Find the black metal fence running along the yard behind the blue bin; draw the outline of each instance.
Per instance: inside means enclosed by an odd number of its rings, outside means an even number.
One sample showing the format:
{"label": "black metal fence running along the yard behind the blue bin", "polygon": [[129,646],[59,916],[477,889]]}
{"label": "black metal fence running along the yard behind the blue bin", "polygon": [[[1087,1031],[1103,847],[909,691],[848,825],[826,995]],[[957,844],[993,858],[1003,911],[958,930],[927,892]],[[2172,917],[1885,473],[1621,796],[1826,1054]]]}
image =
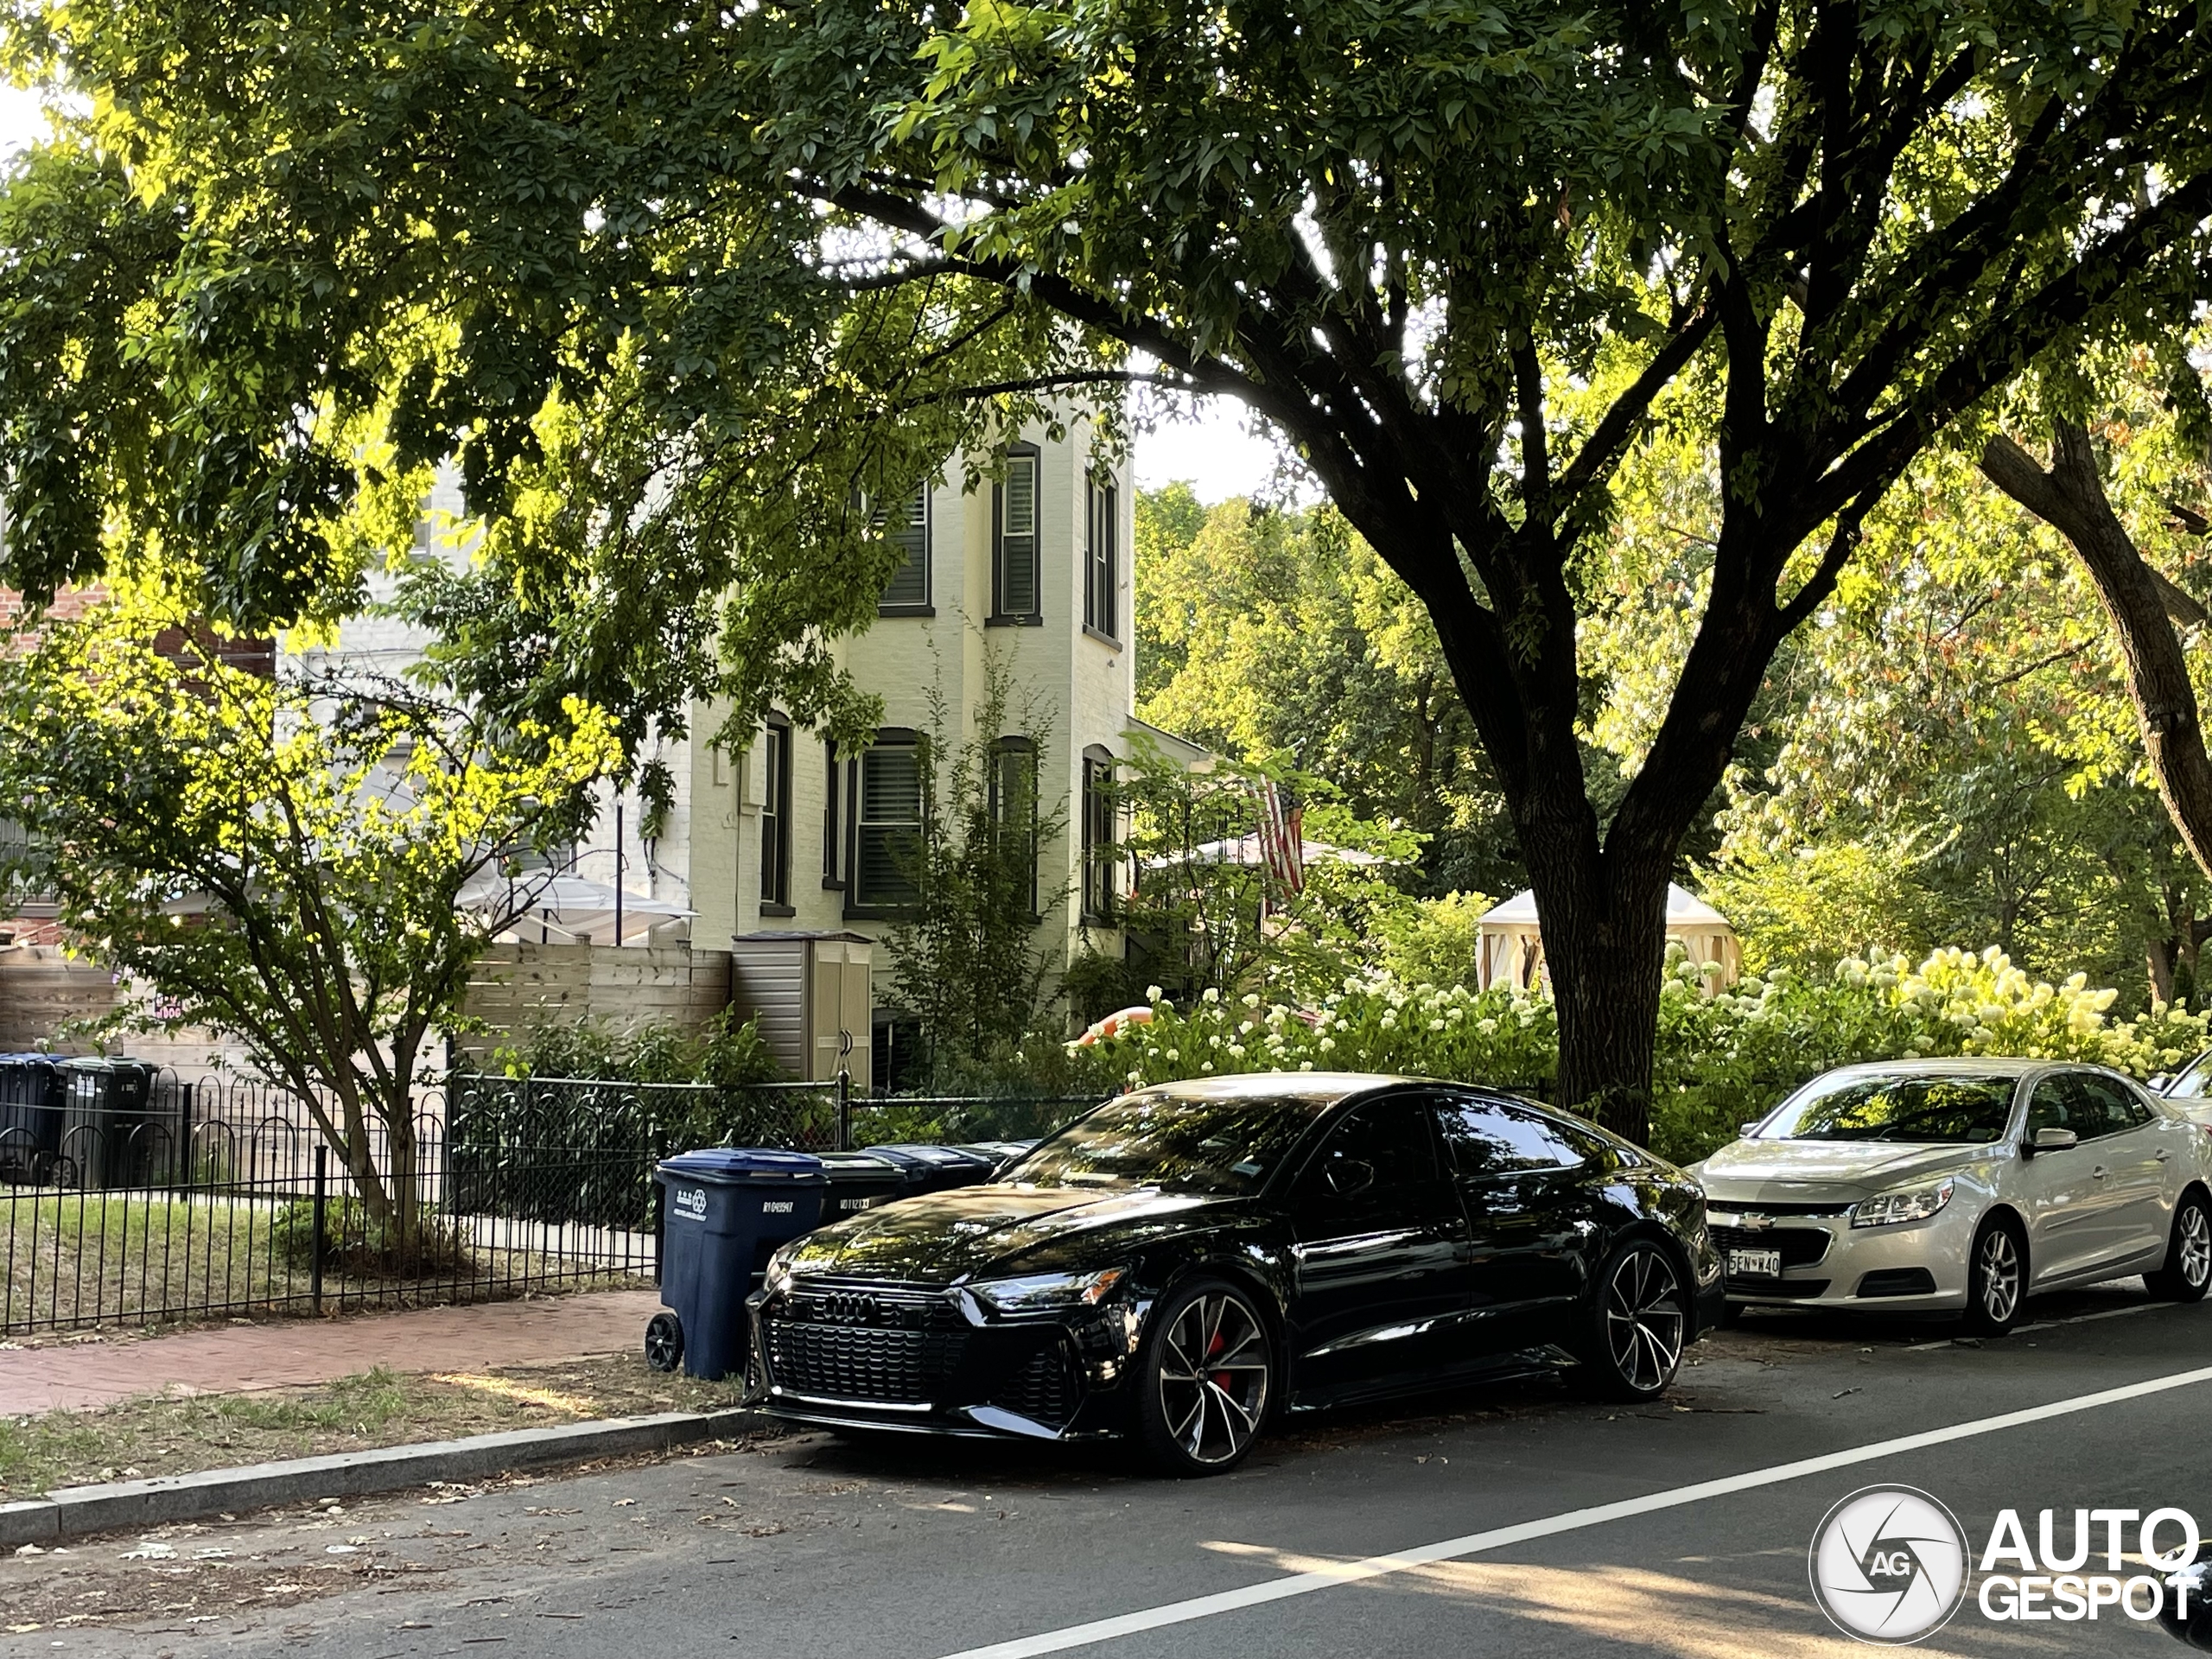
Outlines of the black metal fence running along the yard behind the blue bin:
{"label": "black metal fence running along the yard behind the blue bin", "polygon": [[653,1283],[672,1150],[1026,1139],[1095,1102],[460,1073],[418,1104],[349,1168],[272,1084],[0,1060],[0,1332]]}

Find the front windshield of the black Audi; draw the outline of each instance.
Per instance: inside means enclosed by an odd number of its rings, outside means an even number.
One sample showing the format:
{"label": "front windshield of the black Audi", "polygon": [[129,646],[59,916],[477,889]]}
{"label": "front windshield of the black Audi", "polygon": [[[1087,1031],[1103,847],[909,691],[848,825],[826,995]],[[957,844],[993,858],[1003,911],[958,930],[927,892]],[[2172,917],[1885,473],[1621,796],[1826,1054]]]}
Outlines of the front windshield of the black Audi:
{"label": "front windshield of the black Audi", "polygon": [[1141,1093],[1088,1113],[998,1179],[1006,1186],[1157,1186],[1256,1192],[1325,1108],[1323,1095]]}

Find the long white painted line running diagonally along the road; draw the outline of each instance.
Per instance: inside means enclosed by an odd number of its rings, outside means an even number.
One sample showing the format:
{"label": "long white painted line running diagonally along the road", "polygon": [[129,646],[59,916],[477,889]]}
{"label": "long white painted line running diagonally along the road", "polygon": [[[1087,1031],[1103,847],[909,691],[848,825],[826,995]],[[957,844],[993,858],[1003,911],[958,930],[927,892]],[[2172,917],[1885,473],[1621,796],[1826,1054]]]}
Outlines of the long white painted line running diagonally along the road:
{"label": "long white painted line running diagonally along the road", "polygon": [[1896,1458],[1905,1451],[1922,1451],[1924,1447],[1942,1447],[1953,1440],[1973,1440],[1984,1433],[2002,1433],[2004,1429],[2017,1429],[2028,1422],[2046,1422],[2051,1418],[2064,1418],[2075,1411],[2095,1411],[2097,1407],[2119,1405],[2121,1400],[2141,1400],[2146,1394],[2166,1394],[2168,1389],[2185,1389],[2194,1383],[2212,1383],[2212,1365],[2197,1371],[2174,1371],[2172,1376],[2154,1376],[2146,1383],[2130,1383],[2119,1389],[2101,1389],[2097,1394],[2077,1394],[2070,1400],[2053,1400],[2051,1405],[2031,1405],[2022,1411],[2004,1411],[1995,1418],[1973,1418],[1971,1422],[1953,1422],[1947,1429],[1927,1429],[1922,1433],[1898,1436],[1896,1440],[1874,1440],[1863,1447],[1849,1447],[1845,1451],[1827,1451],[1818,1458],[1798,1458],[1796,1462],[1778,1462],[1767,1469],[1752,1469],[1741,1475],[1723,1475],[1721,1480],[1701,1480],[1692,1486],[1672,1486],[1668,1491],[1646,1493],[1644,1498],[1624,1498],[1613,1504],[1593,1504],[1590,1509],[1568,1509],[1562,1515],[1544,1515],[1542,1520],[1515,1522],[1513,1526],[1493,1526],[1486,1533],[1467,1533],[1462,1537],[1447,1537],[1438,1544],[1420,1544],[1418,1548],[1398,1551],[1394,1555],[1369,1555],[1365,1562],[1343,1562],[1340,1566],[1323,1566],[1312,1573],[1294,1573],[1290,1577],[1265,1579],[1261,1584],[1245,1584],[1241,1590],[1221,1590],[1217,1595],[1197,1595],[1188,1601],[1168,1601],[1157,1608],[1141,1608],[1137,1613],[1121,1613],[1113,1619],[1093,1619],[1091,1624],[1071,1624],[1062,1630],[1044,1630],[1033,1637],[1015,1637],[1013,1641],[995,1641],[989,1648],[962,1648],[956,1655],[945,1655],[945,1659],[1033,1659],[1042,1652],[1064,1652],[1068,1648],[1086,1648],[1093,1641],[1113,1641],[1115,1637],[1133,1637],[1141,1630],[1159,1630],[1170,1624],[1188,1624],[1192,1619],[1210,1619],[1217,1613],[1239,1613],[1243,1608],[1265,1606],[1267,1601],[1283,1601],[1294,1595],[1312,1595],[1314,1590],[1329,1590],[1338,1584],[1358,1584],[1363,1579],[1376,1579],[1385,1573],[1405,1573],[1413,1566],[1429,1566],[1433,1562],[1455,1562],[1462,1555],[1480,1555],[1484,1551],[1504,1548],[1509,1544],[1526,1544],[1533,1537],[1555,1537],[1559,1533],[1577,1533],[1586,1526],[1606,1526],[1608,1522],[1630,1520],[1635,1515],[1652,1515],[1663,1509],[1681,1509],[1686,1504],[1701,1504],[1708,1498],[1728,1498],[1730,1493],[1752,1491],[1754,1486],[1778,1486],[1787,1480],[1803,1480],[1805,1475],[1825,1475],[1829,1469],[1849,1469],[1860,1462],[1878,1462],[1882,1458]]}

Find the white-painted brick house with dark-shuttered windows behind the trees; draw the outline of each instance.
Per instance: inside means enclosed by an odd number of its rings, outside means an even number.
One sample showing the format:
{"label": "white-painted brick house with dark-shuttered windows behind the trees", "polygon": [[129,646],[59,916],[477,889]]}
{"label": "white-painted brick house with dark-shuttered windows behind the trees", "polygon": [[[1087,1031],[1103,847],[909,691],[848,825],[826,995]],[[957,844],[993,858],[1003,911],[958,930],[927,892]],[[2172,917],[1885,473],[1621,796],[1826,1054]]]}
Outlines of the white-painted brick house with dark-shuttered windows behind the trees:
{"label": "white-painted brick house with dark-shuttered windows behind the trees", "polygon": [[[958,721],[945,732],[949,743],[982,739],[1033,752],[1040,818],[1062,825],[1037,849],[1048,962],[1064,967],[1084,949],[1121,953],[1113,927],[1121,874],[1095,849],[1117,834],[1108,785],[1137,728],[1126,462],[1093,469],[1088,422],[1071,420],[1062,440],[1042,427],[1022,431],[1006,449],[1004,478],[987,478],[973,493],[960,473],[951,462],[925,500],[894,513],[907,564],[876,624],[838,644],[858,684],[883,697],[874,745],[832,752],[772,712],[750,748],[728,752],[708,741],[726,712],[697,706],[692,734],[659,752],[675,776],[659,836],[639,838],[635,792],[608,792],[593,834],[575,849],[577,874],[697,911],[624,942],[734,945],[732,995],[763,1013],[781,1006],[785,987],[779,973],[763,978],[761,962],[779,958],[783,942],[796,962],[816,953],[805,936],[847,936],[838,953],[869,958],[874,993],[832,989],[821,1011],[807,1013],[812,984],[792,991],[801,1002],[792,1018],[816,1033],[849,1029],[867,1004],[874,1026],[887,1018],[889,962],[860,942],[880,940],[900,914],[902,865],[887,849],[916,816],[918,739],[929,732],[933,701]],[[458,484],[442,478],[429,507],[434,515],[458,513]],[[398,672],[420,644],[400,624],[356,619],[334,650]],[[1011,730],[980,732],[993,659],[1009,681]],[[852,1068],[863,1079],[878,1035],[852,1033]],[[814,1053],[818,1040],[794,1029],[785,1064],[803,1075],[834,1071],[834,1060]]]}

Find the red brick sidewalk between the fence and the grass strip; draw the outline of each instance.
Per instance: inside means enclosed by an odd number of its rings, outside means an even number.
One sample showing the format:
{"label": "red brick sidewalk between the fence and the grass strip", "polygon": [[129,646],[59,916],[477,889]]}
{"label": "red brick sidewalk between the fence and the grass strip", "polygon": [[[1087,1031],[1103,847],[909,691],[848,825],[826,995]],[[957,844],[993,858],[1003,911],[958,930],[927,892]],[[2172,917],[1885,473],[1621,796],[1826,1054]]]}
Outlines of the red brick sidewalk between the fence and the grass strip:
{"label": "red brick sidewalk between the fence and the grass strip", "polygon": [[0,1416],[108,1405],[133,1394],[239,1394],[394,1371],[478,1371],[619,1354],[644,1340],[655,1290],[420,1307],[405,1314],[223,1325],[0,1352]]}

